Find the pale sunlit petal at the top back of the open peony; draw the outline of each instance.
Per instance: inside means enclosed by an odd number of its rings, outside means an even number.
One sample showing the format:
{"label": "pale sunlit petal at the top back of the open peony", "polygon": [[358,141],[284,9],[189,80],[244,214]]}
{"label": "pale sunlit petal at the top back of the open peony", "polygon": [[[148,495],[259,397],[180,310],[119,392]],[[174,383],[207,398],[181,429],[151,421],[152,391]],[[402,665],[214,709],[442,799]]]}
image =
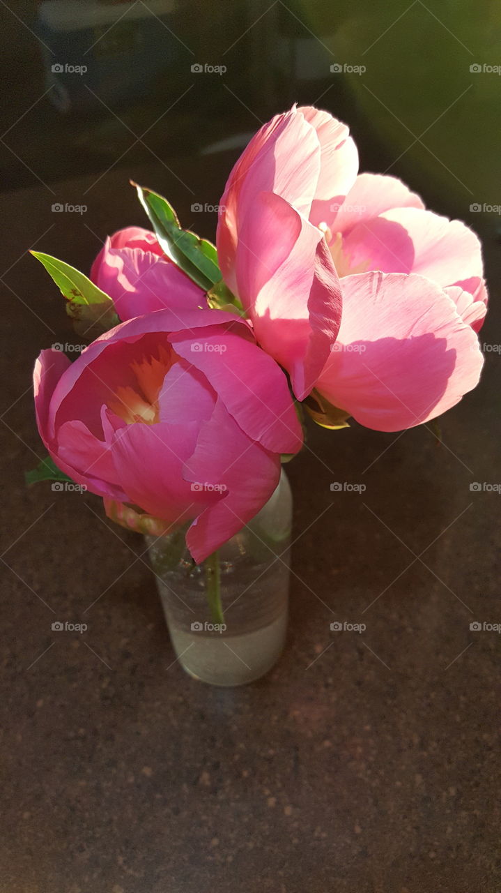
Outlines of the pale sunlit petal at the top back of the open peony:
{"label": "pale sunlit petal at the top back of the open peony", "polygon": [[[335,213],[333,205],[342,202],[357,178],[357,146],[349,136],[347,125],[328,112],[321,112],[311,105],[300,106],[298,112],[316,129],[321,149],[320,175],[309,220],[314,226],[324,222],[329,225]],[[295,202],[291,204],[295,205]]]}

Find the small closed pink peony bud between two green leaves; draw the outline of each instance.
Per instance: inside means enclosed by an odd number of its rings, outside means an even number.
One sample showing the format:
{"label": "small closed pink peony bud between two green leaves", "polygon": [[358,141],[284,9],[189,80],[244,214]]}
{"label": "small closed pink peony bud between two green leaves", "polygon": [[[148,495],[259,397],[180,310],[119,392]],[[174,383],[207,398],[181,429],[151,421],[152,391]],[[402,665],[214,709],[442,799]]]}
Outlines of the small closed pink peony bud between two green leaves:
{"label": "small closed pink peony bud between two green leaves", "polygon": [[207,307],[202,289],[169,261],[154,233],[139,227],[106,239],[90,278],[113,299],[122,321],[165,307]]}

